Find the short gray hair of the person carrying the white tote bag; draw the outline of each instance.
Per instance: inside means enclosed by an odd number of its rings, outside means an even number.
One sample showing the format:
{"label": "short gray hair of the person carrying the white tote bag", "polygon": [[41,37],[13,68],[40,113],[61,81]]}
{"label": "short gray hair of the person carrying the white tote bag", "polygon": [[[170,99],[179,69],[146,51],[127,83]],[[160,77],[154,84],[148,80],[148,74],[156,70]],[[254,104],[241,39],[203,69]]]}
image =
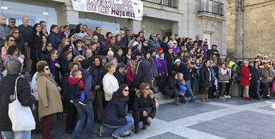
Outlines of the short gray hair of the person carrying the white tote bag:
{"label": "short gray hair of the person carrying the white tote bag", "polygon": [[10,59],[6,64],[8,75],[18,75],[22,70],[22,64],[17,58]]}

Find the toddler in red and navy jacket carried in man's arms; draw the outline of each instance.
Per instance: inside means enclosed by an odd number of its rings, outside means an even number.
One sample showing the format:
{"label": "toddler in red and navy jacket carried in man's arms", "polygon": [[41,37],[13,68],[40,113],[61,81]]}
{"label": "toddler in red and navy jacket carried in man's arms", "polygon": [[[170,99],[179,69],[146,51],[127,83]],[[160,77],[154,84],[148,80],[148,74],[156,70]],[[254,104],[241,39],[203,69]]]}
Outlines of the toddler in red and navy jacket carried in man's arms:
{"label": "toddler in red and navy jacket carried in man's arms", "polygon": [[[71,85],[76,84],[76,83],[81,79],[81,77],[82,77],[82,74],[81,74],[81,71],[80,71],[80,70],[73,70],[73,71],[72,71],[72,74],[69,76],[69,79],[68,79],[69,84],[71,84]],[[78,87],[79,87],[80,89],[83,89],[83,88],[84,88],[84,82],[83,82],[83,80],[80,80],[80,81],[79,81]],[[72,99],[72,98],[73,98],[73,95],[71,95],[71,99]],[[86,106],[87,103],[86,103],[84,100],[85,100],[85,93],[84,93],[84,91],[82,90],[82,91],[81,91],[81,95],[80,95],[80,101],[79,101],[79,103],[82,104],[82,105],[84,105],[84,106]]]}

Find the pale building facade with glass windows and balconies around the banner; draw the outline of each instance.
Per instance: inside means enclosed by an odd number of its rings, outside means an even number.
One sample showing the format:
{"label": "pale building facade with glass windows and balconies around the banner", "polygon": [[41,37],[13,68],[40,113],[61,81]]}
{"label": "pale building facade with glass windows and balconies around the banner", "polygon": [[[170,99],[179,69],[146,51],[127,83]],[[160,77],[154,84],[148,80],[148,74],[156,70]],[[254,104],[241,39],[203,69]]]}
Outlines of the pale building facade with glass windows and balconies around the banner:
{"label": "pale building facade with glass windows and balconies around the banner", "polygon": [[218,45],[220,54],[226,55],[226,1],[225,0],[142,0],[143,20],[119,18],[92,12],[75,11],[71,0],[0,0],[1,12],[6,18],[28,16],[30,25],[44,20],[48,31],[52,24],[76,25],[83,23],[89,28],[101,28],[117,32],[131,30],[143,31],[148,39],[151,33],[161,36],[178,34],[195,40],[207,40],[209,45]]}

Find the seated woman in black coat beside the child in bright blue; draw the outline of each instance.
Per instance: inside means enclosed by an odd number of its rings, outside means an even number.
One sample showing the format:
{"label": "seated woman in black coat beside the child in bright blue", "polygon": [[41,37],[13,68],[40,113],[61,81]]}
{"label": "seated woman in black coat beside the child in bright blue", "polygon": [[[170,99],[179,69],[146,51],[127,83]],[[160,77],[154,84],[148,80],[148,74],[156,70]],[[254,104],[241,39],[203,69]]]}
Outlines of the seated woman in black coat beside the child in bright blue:
{"label": "seated woman in black coat beside the child in bright blue", "polygon": [[179,95],[184,95],[180,92],[178,85],[177,85],[177,74],[171,73],[170,78],[165,83],[165,88],[163,94],[166,95],[166,99],[168,99],[168,96],[173,96],[175,99],[175,105],[181,105],[178,102],[177,97]]}

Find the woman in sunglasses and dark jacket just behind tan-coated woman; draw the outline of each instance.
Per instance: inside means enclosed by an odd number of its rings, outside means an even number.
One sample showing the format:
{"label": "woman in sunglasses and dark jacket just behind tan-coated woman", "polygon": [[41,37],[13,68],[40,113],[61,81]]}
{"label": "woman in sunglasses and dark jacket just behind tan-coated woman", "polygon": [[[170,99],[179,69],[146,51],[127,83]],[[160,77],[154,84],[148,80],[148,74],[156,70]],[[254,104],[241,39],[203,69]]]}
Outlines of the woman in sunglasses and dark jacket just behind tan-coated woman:
{"label": "woman in sunglasses and dark jacket just behind tan-coated woman", "polygon": [[48,55],[48,59],[46,59],[45,61],[48,63],[50,70],[51,70],[51,76],[53,77],[53,79],[55,80],[55,82],[57,83],[58,86],[61,86],[61,80],[60,80],[60,73],[59,73],[59,68],[60,65],[57,63],[58,60],[58,52],[56,49],[52,49],[49,52]]}

